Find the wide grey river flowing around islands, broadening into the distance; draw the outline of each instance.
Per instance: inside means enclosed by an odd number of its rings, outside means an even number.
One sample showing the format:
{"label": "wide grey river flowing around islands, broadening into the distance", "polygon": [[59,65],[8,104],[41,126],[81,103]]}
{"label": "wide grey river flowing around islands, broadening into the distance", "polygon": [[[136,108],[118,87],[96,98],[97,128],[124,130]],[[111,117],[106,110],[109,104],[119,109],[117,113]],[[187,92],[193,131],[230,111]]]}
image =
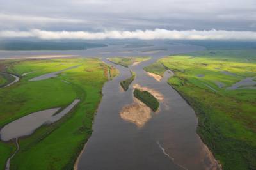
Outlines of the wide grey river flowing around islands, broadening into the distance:
{"label": "wide grey river flowing around islands, broadening into the distance", "polygon": [[[102,61],[115,66],[118,77],[106,82],[93,133],[81,153],[78,169],[219,169],[211,152],[196,134],[197,118],[193,109],[166,81],[156,81],[143,67],[170,54],[204,50],[182,44],[154,43],[150,47],[126,48],[111,45],[83,51],[56,52],[0,52],[0,58],[33,55],[100,56]],[[110,63],[111,56],[151,56],[148,61],[131,66],[136,79],[128,91],[120,90],[120,81],[131,74],[128,68]],[[120,111],[132,104],[132,86],[139,84],[163,94],[160,110],[143,125],[125,121]]]}

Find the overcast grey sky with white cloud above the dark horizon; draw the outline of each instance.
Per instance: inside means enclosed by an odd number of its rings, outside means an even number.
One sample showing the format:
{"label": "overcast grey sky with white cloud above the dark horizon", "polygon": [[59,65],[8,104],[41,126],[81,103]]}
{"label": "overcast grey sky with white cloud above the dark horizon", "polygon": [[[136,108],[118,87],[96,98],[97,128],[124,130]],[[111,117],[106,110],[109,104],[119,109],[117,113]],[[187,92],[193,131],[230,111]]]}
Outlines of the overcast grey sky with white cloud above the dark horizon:
{"label": "overcast grey sky with white cloud above the dark horizon", "polygon": [[[193,33],[196,34],[193,37],[202,36],[202,31],[209,31],[212,37],[214,29],[214,33],[220,34],[219,30],[228,31],[230,36],[239,33],[241,37],[243,36],[241,33],[248,36],[256,31],[256,1],[0,0],[0,23],[1,37],[10,37],[8,34],[24,36],[24,33],[27,33],[29,37],[40,38],[35,35],[35,31],[48,31],[47,33],[56,33],[61,38],[60,31],[67,33],[70,31],[106,33],[107,31],[108,35],[104,37],[109,38],[109,31],[118,31],[120,35],[124,35],[123,31],[154,32],[156,29],[181,31],[178,33],[182,38],[188,37],[184,35],[184,31],[194,29],[198,33],[194,31]],[[63,35],[63,32],[61,33]],[[170,35],[170,32],[166,34]],[[205,37],[205,32],[203,34]],[[156,36],[155,32],[154,35]],[[72,35],[69,38],[72,38]]]}

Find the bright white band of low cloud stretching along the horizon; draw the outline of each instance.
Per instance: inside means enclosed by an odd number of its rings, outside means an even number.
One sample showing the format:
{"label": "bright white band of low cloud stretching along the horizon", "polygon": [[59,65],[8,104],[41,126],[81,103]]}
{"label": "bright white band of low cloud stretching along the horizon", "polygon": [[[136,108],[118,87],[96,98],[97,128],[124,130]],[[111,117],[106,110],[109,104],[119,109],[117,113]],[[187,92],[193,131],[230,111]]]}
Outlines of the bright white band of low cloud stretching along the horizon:
{"label": "bright white band of low cloud stretching along the horizon", "polygon": [[256,40],[255,31],[225,31],[225,30],[136,30],[136,31],[44,31],[31,29],[30,31],[0,31],[0,38],[39,38],[42,40],[103,40],[103,39],[173,39],[173,40]]}

